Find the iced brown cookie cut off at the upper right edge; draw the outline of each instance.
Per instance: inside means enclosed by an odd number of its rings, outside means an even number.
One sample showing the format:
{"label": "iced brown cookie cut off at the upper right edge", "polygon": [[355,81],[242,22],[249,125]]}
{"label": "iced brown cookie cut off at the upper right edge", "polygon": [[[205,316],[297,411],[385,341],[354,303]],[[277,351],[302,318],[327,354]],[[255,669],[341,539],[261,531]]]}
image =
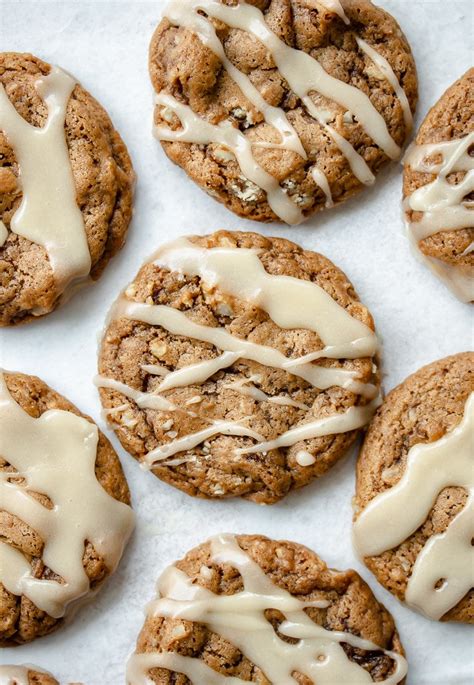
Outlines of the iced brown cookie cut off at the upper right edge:
{"label": "iced brown cookie cut off at the upper right edge", "polygon": [[423,261],[474,300],[474,69],[428,112],[405,156],[404,209]]}

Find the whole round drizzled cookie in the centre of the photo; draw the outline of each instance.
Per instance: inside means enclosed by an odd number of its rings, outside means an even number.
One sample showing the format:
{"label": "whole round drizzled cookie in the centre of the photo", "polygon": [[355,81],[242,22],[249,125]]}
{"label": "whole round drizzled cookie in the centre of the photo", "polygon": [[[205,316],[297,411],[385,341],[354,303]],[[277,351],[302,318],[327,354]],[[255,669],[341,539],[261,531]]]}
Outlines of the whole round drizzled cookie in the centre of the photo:
{"label": "whole round drizzled cookie in the centre of the photo", "polygon": [[163,246],[115,304],[97,384],[125,447],[198,497],[269,504],[372,416],[377,338],[328,259],[220,231]]}

